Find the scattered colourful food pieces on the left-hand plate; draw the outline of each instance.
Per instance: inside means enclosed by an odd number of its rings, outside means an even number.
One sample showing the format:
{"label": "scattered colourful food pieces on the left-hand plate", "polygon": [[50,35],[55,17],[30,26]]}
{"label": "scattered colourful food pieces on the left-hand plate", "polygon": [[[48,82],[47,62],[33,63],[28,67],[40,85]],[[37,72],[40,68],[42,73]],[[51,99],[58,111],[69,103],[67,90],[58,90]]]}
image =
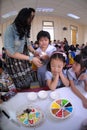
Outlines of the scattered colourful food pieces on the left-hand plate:
{"label": "scattered colourful food pieces on the left-hand plate", "polygon": [[42,122],[43,117],[42,111],[32,106],[17,113],[18,121],[25,126],[36,126]]}

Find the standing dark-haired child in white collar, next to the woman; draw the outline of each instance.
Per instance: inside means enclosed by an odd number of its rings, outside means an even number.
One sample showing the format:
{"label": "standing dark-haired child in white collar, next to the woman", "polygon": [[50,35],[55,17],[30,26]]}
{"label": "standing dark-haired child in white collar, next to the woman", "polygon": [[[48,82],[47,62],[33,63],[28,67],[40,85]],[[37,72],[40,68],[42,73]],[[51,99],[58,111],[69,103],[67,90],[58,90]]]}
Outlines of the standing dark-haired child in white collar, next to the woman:
{"label": "standing dark-haired child in white collar, next to the woman", "polygon": [[43,66],[38,68],[37,77],[41,87],[46,86],[45,84],[45,72],[46,65],[48,63],[48,59],[51,56],[52,52],[56,50],[56,48],[50,45],[50,34],[47,31],[40,31],[37,34],[37,41],[39,42],[39,48],[36,50],[38,52],[39,57],[43,63]]}

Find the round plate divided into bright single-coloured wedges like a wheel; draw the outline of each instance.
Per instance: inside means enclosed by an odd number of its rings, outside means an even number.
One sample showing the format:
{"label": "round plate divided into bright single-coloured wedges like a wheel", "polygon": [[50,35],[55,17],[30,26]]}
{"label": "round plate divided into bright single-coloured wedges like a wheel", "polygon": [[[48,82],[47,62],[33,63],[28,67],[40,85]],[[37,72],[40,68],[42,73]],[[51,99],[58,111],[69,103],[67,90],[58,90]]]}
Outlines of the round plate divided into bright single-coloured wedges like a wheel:
{"label": "round plate divided into bright single-coloured wedges like a wheel", "polygon": [[51,115],[58,119],[65,119],[69,117],[72,111],[72,104],[67,99],[55,100],[50,106]]}

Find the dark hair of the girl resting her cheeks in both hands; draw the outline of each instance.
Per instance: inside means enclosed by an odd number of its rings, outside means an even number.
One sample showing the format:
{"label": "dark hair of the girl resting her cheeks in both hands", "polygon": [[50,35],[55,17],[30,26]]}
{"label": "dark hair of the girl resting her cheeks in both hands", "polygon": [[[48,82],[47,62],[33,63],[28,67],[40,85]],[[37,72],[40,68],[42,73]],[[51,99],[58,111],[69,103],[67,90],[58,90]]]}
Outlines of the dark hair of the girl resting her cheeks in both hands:
{"label": "dark hair of the girl resting her cheeks in both hands", "polygon": [[48,71],[51,71],[51,66],[50,66],[50,63],[51,63],[51,60],[52,59],[60,59],[61,61],[63,61],[64,63],[66,62],[66,58],[65,56],[63,56],[64,53],[62,52],[53,52],[52,56],[50,57],[49,59],[49,62],[47,64],[47,70]]}

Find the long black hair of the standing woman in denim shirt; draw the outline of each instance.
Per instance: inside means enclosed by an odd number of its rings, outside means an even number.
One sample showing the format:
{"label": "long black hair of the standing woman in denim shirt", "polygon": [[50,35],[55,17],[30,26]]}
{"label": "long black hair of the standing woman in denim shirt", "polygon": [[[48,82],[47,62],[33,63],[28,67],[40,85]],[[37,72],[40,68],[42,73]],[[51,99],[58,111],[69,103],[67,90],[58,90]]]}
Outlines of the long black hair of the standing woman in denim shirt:
{"label": "long black hair of the standing woman in denim shirt", "polygon": [[30,36],[30,28],[31,25],[27,24],[28,18],[31,18],[31,13],[35,12],[33,8],[23,8],[18,13],[17,17],[15,18],[13,24],[15,24],[17,28],[17,32],[19,35],[19,39],[22,39],[22,37],[26,34],[27,37]]}

